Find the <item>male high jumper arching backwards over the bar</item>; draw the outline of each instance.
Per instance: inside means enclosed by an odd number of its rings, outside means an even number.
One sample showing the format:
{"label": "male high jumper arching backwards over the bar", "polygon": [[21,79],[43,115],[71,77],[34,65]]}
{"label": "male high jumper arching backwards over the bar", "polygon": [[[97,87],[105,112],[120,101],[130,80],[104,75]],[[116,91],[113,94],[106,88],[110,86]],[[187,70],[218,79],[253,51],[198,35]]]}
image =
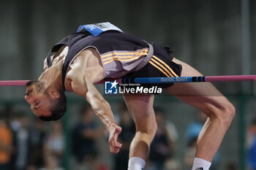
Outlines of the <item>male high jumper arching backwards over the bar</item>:
{"label": "male high jumper arching backwards over the bar", "polygon": [[[108,24],[97,25],[98,28]],[[96,27],[95,27],[96,28]],[[66,111],[64,91],[86,98],[109,132],[110,151],[117,153],[121,127],[115,123],[110,104],[94,84],[105,78],[202,76],[192,66],[173,58],[170,50],[150,44],[118,28],[95,35],[80,31],[53,46],[37,81],[26,85],[26,101],[42,120],[58,120]],[[159,85],[158,85],[159,86]],[[208,116],[197,139],[192,170],[208,170],[235,115],[235,108],[210,82],[184,82],[161,86],[181,101]],[[124,100],[136,125],[129,150],[129,170],[143,169],[157,131],[152,94],[125,94]]]}

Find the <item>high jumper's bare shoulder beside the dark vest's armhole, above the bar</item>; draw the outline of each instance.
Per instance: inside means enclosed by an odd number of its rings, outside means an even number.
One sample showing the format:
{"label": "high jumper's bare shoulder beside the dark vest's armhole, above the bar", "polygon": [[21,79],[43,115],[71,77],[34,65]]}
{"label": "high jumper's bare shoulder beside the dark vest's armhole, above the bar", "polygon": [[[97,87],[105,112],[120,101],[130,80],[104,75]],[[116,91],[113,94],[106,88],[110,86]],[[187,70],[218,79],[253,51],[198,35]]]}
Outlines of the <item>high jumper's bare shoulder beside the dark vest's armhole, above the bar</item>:
{"label": "high jumper's bare shoulder beside the dark vest's armhole, above the bar", "polygon": [[[83,81],[89,78],[92,83],[99,82],[104,77],[104,69],[100,55],[93,47],[87,48],[78,54],[69,66],[65,86],[72,90],[71,82]],[[78,82],[79,84],[82,82]]]}

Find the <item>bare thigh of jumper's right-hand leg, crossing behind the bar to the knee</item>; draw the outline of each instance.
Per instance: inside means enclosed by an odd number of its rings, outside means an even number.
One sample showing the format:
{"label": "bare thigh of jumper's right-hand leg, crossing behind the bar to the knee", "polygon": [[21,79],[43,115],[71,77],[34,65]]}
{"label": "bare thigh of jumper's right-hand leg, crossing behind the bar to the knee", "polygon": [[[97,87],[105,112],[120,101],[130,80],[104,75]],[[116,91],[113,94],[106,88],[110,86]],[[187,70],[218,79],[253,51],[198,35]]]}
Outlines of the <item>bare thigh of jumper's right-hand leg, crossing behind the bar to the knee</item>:
{"label": "bare thigh of jumper's right-hand leg, crossing behind the bar to the knee", "polygon": [[[187,63],[173,58],[175,63],[182,66],[181,77],[202,76],[200,72]],[[211,82],[180,82],[167,88],[167,91],[182,101],[202,110],[207,115],[213,109],[222,109],[229,101]]]}

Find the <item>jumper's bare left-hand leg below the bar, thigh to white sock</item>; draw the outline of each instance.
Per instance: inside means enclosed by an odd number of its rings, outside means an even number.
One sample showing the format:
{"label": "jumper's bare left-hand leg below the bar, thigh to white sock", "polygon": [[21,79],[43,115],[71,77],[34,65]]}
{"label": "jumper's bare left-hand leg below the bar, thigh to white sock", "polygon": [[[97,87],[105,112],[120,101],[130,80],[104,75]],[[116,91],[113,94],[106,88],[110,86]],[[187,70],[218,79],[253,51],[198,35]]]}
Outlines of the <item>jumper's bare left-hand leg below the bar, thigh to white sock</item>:
{"label": "jumper's bare left-hand leg below the bar, thigh to white sock", "polygon": [[129,149],[128,169],[141,170],[145,166],[150,144],[157,131],[154,96],[125,96],[125,101],[136,125],[136,134]]}

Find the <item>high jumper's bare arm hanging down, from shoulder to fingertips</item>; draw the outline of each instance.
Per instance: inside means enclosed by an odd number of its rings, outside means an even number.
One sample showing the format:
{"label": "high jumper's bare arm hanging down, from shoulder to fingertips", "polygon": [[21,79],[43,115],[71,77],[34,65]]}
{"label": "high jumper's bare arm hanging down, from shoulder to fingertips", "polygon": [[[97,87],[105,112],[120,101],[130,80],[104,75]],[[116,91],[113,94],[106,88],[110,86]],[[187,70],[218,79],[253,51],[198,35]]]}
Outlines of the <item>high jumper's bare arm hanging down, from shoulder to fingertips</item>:
{"label": "high jumper's bare arm hanging down, from shoulder to fingertips", "polygon": [[100,65],[98,57],[99,54],[93,48],[80,52],[70,64],[66,80],[67,84],[71,87],[69,90],[83,96],[91,104],[91,108],[109,131],[108,142],[110,144],[110,151],[117,153],[121,148],[121,144],[117,142],[118,134],[121,133],[121,127],[113,123],[115,120],[110,104],[108,104],[108,101],[105,101],[94,86],[94,82],[102,80],[104,74],[104,69]]}

